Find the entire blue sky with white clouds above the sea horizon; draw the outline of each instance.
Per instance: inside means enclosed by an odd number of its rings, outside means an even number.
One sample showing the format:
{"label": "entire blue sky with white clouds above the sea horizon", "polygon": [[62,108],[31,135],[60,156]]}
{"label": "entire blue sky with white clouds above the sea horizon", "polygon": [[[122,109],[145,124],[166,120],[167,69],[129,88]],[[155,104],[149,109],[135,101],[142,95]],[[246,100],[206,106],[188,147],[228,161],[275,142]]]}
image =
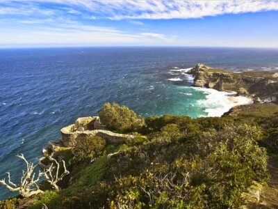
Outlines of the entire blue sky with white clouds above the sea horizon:
{"label": "entire blue sky with white clouds above the sea horizon", "polygon": [[0,47],[278,47],[278,0],[0,0]]}

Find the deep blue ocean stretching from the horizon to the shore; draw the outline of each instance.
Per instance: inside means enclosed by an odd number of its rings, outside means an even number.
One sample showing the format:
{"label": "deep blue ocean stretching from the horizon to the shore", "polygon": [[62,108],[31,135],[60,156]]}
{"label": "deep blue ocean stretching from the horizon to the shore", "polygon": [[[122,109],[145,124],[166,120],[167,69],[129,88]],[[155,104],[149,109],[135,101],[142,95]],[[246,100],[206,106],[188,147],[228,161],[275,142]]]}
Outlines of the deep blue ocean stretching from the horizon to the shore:
{"label": "deep blue ocean stretching from the horizon to the shore", "polygon": [[[234,71],[277,70],[278,49],[92,47],[0,50],[0,178],[17,182],[24,153],[37,162],[47,141],[104,102],[142,116],[206,116],[221,109],[206,91],[190,87],[184,70],[197,63]],[[12,195],[0,185],[0,199]]]}

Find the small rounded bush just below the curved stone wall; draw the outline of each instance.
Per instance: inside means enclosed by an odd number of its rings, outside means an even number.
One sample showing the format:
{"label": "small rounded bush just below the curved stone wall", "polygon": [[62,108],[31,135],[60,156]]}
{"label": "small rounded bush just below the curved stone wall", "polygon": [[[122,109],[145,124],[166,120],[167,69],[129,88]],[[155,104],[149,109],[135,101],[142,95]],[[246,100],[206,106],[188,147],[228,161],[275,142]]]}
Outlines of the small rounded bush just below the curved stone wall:
{"label": "small rounded bush just below the curved stone wall", "polygon": [[106,141],[97,135],[80,139],[72,149],[77,160],[88,160],[99,157],[104,151]]}

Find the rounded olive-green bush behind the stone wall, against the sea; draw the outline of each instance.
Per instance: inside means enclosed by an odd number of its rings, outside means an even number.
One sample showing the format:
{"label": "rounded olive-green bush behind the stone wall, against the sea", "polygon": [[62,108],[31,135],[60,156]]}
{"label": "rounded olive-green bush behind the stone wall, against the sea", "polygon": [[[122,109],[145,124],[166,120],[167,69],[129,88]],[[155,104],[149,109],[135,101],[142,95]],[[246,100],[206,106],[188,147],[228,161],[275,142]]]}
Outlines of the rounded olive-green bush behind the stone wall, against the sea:
{"label": "rounded olive-green bush behind the stone wall, against the sea", "polygon": [[99,110],[99,118],[108,129],[117,132],[136,131],[145,124],[133,110],[117,103],[105,103]]}

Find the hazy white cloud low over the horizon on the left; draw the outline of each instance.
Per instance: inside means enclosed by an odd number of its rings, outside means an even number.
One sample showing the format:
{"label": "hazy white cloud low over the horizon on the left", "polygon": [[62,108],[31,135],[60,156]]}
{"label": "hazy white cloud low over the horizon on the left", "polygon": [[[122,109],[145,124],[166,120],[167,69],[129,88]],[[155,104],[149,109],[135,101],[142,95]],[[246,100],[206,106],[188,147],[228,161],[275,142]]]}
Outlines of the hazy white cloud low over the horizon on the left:
{"label": "hazy white cloud low over the horizon on the left", "polygon": [[[12,25],[0,20],[0,26]],[[28,24],[26,28],[25,25]],[[0,31],[2,45],[147,45],[167,42],[162,33],[127,33],[109,26],[94,26],[65,18],[21,20]],[[170,40],[170,39],[169,39]]]}

